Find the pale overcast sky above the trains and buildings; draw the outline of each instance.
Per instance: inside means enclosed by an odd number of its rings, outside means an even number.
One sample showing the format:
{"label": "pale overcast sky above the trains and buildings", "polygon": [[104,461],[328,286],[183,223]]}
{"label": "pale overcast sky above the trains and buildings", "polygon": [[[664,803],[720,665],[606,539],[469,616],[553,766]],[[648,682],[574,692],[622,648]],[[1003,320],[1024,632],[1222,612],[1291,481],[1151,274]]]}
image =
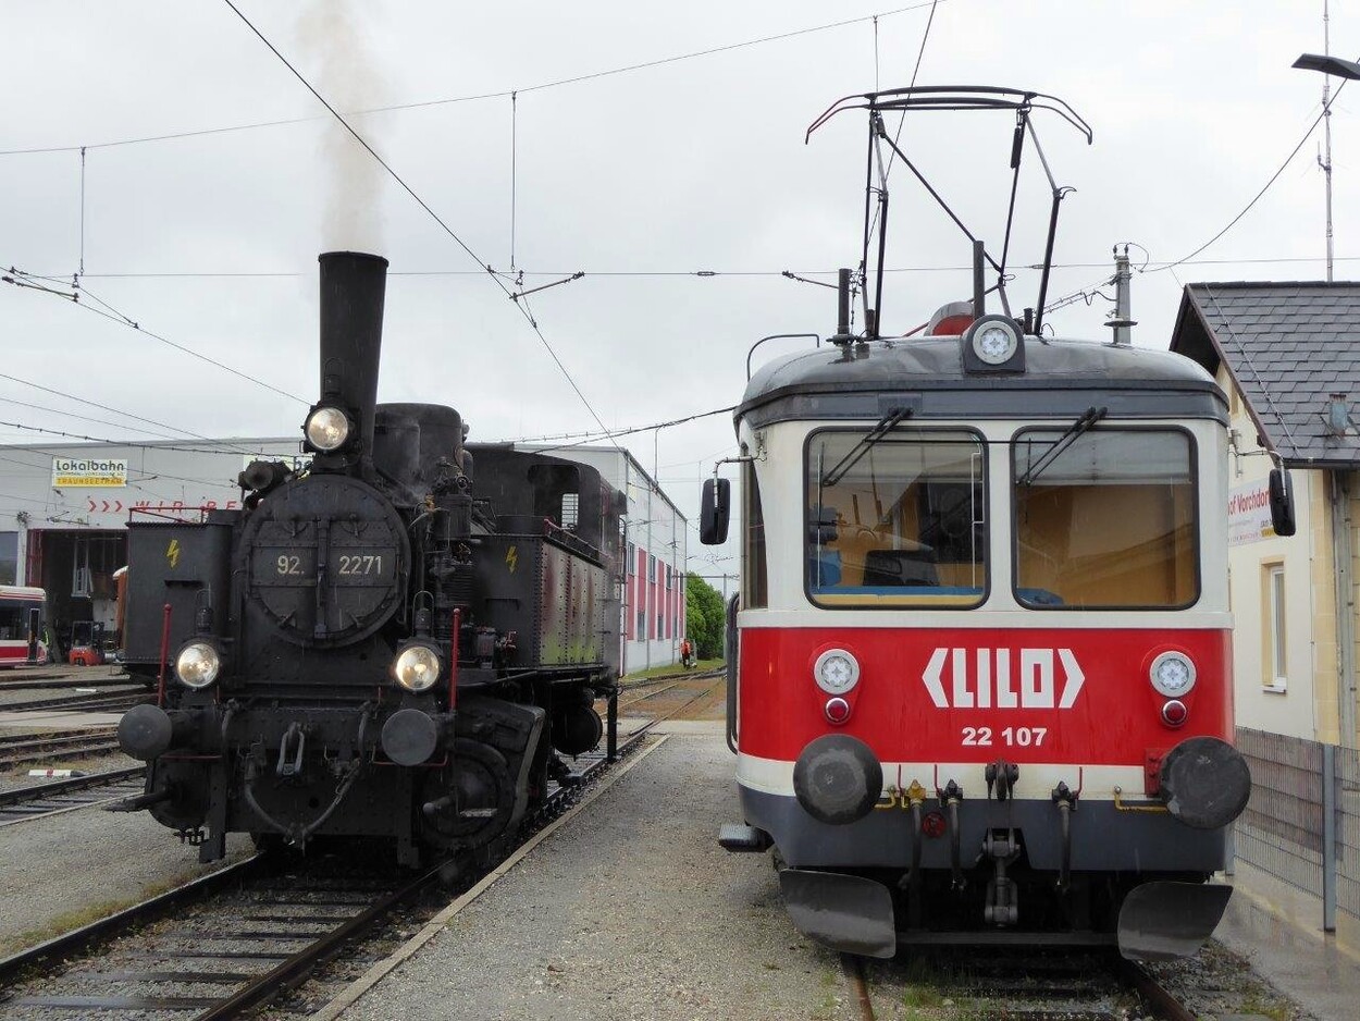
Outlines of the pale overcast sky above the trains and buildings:
{"label": "pale overcast sky above the trains and buildings", "polygon": [[[1356,4],[1330,3],[1331,52],[1346,59],[1360,56]],[[733,404],[756,339],[834,329],[832,291],[779,271],[831,280],[858,261],[864,117],[808,146],[806,125],[842,95],[908,84],[932,16],[911,0],[238,5],[339,110],[404,108],[350,120],[475,259],[222,0],[0,0],[0,264],[69,285],[83,260],[82,305],[102,299],[276,388],[0,285],[0,372],[68,395],[0,378],[0,421],[152,438],[94,402],[173,426],[146,426],[162,436],[294,433],[317,396],[316,256],[332,248],[392,264],[379,399],[453,404],[475,440],[598,429],[486,264],[522,270],[524,287],[585,271],[528,301],[611,429]],[[1323,0],[940,0],[917,83],[1051,93],[1089,121],[1087,147],[1036,116],[1058,182],[1076,188],[1050,301],[1096,290],[1112,245],[1134,242],[1136,265],[1148,261],[1134,343],[1166,347],[1183,283],[1325,278],[1321,128],[1232,230],[1159,271],[1242,212],[1316,118],[1323,78],[1289,65],[1322,50],[1322,12]],[[849,23],[812,31],[832,22]],[[651,65],[601,74],[639,64]],[[583,80],[552,84],[566,79]],[[1357,109],[1360,86],[1333,105],[1337,279],[1357,275]],[[214,131],[273,121],[291,123]],[[129,142],[186,132],[200,133]],[[902,132],[994,245],[1009,132],[1005,113],[913,114]],[[1027,172],[1016,306],[1034,304],[1025,267],[1049,212],[1040,167]],[[902,167],[891,185],[888,265],[903,272],[889,274],[885,334],[971,287],[963,236]],[[1095,295],[1049,321],[1106,340],[1110,308]],[[758,362],[779,353],[767,344]],[[700,476],[734,452],[730,417],[654,436],[620,442],[696,517]],[[39,441],[61,438],[0,425],[0,442]],[[736,568],[706,560],[696,532],[690,549],[694,570]]]}

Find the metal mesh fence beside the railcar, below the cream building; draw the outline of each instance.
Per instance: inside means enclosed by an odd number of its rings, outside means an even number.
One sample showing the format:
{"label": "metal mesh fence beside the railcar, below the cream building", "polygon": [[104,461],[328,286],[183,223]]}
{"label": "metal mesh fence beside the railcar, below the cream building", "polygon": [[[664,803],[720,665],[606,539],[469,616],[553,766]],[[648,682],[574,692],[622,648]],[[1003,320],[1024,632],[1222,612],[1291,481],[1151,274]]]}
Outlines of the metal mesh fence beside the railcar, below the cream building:
{"label": "metal mesh fence beside the railcar, below the cream building", "polygon": [[1235,856],[1321,897],[1323,930],[1336,930],[1337,911],[1360,919],[1360,753],[1246,727],[1238,749],[1251,800]]}

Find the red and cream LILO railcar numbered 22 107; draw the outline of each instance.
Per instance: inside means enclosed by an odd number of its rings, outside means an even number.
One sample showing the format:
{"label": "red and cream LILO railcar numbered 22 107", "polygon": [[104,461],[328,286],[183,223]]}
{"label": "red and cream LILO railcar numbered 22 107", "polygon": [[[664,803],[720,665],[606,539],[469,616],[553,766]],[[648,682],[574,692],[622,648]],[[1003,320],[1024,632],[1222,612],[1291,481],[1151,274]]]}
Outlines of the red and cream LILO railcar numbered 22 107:
{"label": "red and cream LILO railcar numbered 22 107", "polygon": [[997,370],[975,332],[794,355],[747,389],[725,843],[772,841],[794,920],[839,949],[1190,953],[1250,792],[1223,395],[1091,342],[1020,338]]}

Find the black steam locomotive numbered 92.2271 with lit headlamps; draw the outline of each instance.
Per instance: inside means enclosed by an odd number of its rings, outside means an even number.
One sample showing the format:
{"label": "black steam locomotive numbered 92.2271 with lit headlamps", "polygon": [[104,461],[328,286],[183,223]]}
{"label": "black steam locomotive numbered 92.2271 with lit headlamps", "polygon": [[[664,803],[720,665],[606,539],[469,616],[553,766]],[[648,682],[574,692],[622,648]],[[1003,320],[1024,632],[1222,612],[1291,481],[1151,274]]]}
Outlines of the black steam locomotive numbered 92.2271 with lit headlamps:
{"label": "black steam locomotive numbered 92.2271 with lit headlamps", "polygon": [[321,263],[310,464],[253,461],[241,510],[129,524],[118,726],[146,809],[200,860],[394,839],[492,855],[562,756],[616,722],[626,498],[560,457],[465,442],[452,407],[377,404],[386,260]]}

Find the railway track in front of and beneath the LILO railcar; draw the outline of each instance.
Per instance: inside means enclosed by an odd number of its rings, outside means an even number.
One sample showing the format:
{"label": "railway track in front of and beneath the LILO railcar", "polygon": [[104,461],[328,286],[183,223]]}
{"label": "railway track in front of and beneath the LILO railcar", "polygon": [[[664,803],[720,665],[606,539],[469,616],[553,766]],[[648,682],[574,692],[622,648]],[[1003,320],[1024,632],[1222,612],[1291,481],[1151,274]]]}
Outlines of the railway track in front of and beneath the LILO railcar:
{"label": "railway track in front of and beneath the LILO railcar", "polygon": [[[894,961],[842,956],[847,999],[860,1021],[880,1007],[952,1007],[960,1017],[1008,1021],[1195,1021],[1171,991],[1112,949],[983,953],[949,947]],[[883,1011],[885,1017],[896,1013]]]}

